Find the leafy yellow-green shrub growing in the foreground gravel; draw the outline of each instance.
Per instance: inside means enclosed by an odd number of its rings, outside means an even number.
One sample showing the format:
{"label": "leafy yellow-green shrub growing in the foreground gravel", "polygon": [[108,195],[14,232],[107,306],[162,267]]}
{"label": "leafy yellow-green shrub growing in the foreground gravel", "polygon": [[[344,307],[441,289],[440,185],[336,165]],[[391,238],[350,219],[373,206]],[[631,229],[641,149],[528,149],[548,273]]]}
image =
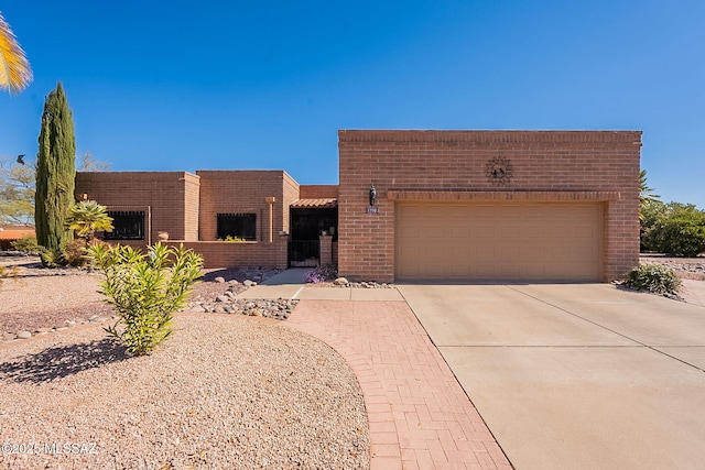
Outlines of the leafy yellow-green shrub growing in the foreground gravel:
{"label": "leafy yellow-green shrub growing in the foreground gravel", "polygon": [[106,331],[128,352],[150,353],[171,335],[174,313],[184,307],[189,287],[200,276],[203,259],[183,244],[156,243],[147,253],[127,245],[93,244],[88,251],[105,274],[100,293],[120,317]]}

